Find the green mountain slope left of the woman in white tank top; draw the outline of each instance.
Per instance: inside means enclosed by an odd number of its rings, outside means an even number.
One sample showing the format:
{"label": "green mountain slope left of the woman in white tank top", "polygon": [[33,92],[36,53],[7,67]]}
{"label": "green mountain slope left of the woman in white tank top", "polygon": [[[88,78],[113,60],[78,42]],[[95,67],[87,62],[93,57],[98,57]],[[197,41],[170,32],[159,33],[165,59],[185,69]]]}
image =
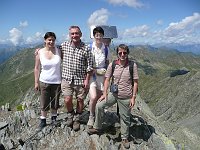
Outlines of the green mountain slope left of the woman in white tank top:
{"label": "green mountain slope left of the woman in white tank top", "polygon": [[0,65],[0,105],[14,105],[33,87],[34,49],[25,49]]}

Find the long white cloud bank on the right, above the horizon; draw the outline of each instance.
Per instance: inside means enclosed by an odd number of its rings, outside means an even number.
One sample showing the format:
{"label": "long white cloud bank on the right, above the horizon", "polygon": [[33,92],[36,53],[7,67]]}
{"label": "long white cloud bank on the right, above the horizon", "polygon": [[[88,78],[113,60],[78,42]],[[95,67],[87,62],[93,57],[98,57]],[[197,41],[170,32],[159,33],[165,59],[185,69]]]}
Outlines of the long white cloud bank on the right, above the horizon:
{"label": "long white cloud bank on the right, above the horizon", "polygon": [[[162,22],[161,20],[159,22]],[[153,30],[147,25],[135,26],[119,32],[120,42],[132,44],[199,44],[200,43],[200,14],[194,13],[180,22],[170,23],[168,27]],[[118,40],[118,39],[117,39]]]}

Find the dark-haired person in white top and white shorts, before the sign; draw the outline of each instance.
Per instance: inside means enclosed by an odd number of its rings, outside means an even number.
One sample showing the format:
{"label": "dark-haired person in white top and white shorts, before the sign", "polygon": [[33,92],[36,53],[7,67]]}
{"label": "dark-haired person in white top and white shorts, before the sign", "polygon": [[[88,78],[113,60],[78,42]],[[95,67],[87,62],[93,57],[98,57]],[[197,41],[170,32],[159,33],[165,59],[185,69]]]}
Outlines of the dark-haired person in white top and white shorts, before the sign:
{"label": "dark-haired person in white top and white shorts, before the sign", "polygon": [[94,73],[93,77],[90,78],[90,89],[89,89],[89,120],[87,123],[88,128],[91,128],[94,124],[95,106],[97,100],[103,93],[104,74],[106,72],[107,65],[109,64],[109,49],[103,43],[104,30],[100,26],[93,29],[94,41],[91,44],[91,50],[94,57]]}

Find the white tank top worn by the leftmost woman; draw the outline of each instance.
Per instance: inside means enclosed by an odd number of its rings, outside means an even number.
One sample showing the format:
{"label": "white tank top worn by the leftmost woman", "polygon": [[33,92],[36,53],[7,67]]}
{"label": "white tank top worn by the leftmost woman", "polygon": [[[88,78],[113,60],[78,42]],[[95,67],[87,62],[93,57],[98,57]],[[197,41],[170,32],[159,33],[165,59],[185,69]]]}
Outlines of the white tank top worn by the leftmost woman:
{"label": "white tank top worn by the leftmost woman", "polygon": [[41,73],[40,81],[48,84],[61,83],[61,57],[58,49],[55,48],[55,55],[47,59],[44,55],[44,48],[40,50]]}

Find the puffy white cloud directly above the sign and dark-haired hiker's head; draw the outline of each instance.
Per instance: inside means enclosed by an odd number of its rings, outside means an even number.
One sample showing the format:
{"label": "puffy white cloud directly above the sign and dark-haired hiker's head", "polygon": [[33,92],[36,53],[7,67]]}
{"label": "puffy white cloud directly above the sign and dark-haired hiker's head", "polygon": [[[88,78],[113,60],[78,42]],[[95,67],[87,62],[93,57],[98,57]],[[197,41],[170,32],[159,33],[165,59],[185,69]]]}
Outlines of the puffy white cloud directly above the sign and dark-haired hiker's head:
{"label": "puffy white cloud directly above the sign and dark-haired hiker's head", "polygon": [[100,10],[96,10],[91,14],[88,19],[88,25],[106,25],[109,17],[109,12],[105,8],[101,8]]}

